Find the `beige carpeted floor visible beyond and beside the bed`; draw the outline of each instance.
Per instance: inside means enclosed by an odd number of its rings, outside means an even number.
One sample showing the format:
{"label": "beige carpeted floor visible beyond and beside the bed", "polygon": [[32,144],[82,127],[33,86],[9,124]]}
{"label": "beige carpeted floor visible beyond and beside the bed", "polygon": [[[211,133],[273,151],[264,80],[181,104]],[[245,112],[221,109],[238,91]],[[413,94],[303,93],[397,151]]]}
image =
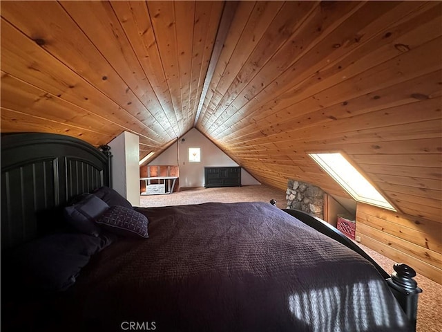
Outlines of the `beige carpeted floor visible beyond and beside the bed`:
{"label": "beige carpeted floor visible beyond and beside the bed", "polygon": [[[244,187],[222,188],[189,188],[173,194],[141,196],[140,206],[167,206],[186,205],[207,202],[234,203],[276,200],[278,208],[287,208],[285,191],[277,190],[265,185],[248,185]],[[387,273],[391,273],[394,261],[361,246]],[[405,262],[406,263],[406,262]],[[421,275],[416,276],[418,286],[423,289],[419,295],[417,328],[418,332],[441,332],[442,331],[442,285],[433,282]]]}

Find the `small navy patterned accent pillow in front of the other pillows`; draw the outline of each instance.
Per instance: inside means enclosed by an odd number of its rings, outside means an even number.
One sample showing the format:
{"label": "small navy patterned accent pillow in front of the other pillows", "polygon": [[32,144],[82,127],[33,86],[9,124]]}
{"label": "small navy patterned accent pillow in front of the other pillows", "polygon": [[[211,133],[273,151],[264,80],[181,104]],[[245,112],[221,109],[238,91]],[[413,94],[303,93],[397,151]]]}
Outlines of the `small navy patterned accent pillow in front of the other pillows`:
{"label": "small navy patterned accent pillow in front of the other pillows", "polygon": [[95,219],[99,226],[124,237],[148,238],[148,220],[144,214],[124,206],[111,206]]}

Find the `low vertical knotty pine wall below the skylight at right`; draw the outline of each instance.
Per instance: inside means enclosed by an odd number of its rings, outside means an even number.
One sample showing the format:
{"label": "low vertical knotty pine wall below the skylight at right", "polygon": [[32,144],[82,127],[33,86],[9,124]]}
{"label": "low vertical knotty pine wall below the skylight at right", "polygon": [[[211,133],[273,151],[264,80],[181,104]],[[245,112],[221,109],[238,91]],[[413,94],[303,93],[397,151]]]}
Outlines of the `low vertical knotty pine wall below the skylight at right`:
{"label": "low vertical knotty pine wall below the skylight at right", "polygon": [[356,235],[365,246],[442,282],[441,223],[358,203]]}

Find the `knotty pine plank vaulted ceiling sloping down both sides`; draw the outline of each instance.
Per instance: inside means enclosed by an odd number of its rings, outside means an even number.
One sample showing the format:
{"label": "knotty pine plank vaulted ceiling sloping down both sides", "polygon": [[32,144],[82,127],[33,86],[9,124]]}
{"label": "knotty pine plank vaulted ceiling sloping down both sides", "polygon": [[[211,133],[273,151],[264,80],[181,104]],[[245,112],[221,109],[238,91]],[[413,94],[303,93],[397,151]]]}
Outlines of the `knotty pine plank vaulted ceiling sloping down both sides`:
{"label": "knotty pine plank vaulted ceiling sloping down both sides", "polygon": [[442,221],[439,1],[1,1],[1,132],[160,153],[196,127],[262,183],[347,196],[344,151]]}

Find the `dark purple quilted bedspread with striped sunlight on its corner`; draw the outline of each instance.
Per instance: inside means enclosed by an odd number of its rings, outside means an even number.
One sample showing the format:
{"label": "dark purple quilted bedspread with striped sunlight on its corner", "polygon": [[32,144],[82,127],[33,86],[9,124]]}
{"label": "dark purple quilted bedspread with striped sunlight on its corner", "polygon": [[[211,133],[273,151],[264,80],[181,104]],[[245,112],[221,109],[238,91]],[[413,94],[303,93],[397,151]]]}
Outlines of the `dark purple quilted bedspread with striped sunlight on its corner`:
{"label": "dark purple quilted bedspread with striped sunlight on its corner", "polygon": [[368,261],[268,203],[137,211],[149,238],[93,257],[64,330],[410,331]]}

